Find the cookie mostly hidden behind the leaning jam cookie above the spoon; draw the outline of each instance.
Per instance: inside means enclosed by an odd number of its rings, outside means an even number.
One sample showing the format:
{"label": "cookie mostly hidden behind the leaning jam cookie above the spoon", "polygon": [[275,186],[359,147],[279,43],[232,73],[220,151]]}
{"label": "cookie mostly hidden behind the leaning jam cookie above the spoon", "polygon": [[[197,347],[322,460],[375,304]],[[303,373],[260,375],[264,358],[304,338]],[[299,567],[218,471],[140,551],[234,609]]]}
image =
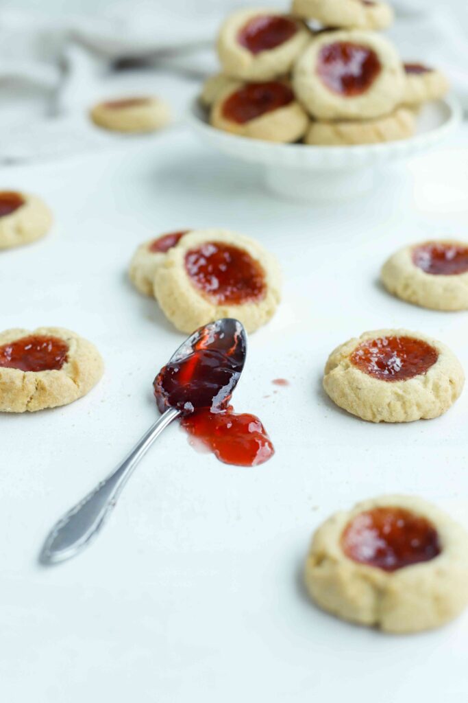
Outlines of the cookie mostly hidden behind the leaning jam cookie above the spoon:
{"label": "cookie mostly hidden behind the leaning jam cookie above the spoon", "polygon": [[130,263],[130,280],[143,295],[154,295],[154,275],[166,252],[175,247],[189,230],[168,232],[140,244]]}

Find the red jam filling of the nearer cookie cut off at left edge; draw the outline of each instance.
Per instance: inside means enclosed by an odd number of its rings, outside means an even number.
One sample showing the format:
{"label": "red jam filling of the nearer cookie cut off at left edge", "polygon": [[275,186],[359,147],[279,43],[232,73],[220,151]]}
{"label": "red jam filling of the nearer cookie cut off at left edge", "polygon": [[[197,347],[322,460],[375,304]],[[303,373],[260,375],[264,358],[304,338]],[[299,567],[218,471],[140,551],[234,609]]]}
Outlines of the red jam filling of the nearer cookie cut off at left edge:
{"label": "red jam filling of the nearer cookie cut off at left edge", "polygon": [[21,371],[59,370],[67,361],[68,344],[58,337],[29,335],[0,347],[0,367]]}

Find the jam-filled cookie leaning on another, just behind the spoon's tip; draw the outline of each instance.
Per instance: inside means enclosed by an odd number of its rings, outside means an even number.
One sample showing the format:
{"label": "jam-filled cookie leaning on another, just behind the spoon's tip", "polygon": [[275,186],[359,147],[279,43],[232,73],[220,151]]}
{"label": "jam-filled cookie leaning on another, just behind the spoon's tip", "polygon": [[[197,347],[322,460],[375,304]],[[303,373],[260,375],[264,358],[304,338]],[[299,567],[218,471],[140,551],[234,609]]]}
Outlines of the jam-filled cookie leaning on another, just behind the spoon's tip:
{"label": "jam-filled cookie leaning on another, just behind the spoon's tip", "polygon": [[255,240],[222,229],[196,230],[158,266],[154,297],[182,332],[222,317],[236,318],[253,332],[274,315],[281,273],[275,257]]}

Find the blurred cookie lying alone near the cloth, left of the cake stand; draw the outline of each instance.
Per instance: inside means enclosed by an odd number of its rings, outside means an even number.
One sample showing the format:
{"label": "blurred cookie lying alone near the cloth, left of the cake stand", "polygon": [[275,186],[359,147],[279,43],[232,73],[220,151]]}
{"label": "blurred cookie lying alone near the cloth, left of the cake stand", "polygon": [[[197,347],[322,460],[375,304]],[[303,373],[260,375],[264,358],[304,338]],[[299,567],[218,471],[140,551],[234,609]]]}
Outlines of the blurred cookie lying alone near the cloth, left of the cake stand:
{"label": "blurred cookie lying alone near the cloth, left of the cake stand", "polygon": [[151,132],[171,122],[171,108],[159,98],[135,97],[98,103],[90,112],[99,127],[122,132]]}

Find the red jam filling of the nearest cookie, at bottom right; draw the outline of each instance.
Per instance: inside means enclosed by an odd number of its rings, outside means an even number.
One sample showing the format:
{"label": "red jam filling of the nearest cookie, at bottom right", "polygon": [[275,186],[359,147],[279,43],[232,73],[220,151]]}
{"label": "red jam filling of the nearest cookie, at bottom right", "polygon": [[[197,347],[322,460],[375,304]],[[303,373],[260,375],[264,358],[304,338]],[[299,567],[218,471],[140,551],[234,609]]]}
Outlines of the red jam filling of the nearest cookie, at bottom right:
{"label": "red jam filling of the nearest cookie, at bottom right", "polygon": [[435,527],[404,508],[374,508],[347,524],[341,538],[345,555],[387,572],[428,562],[441,553]]}

